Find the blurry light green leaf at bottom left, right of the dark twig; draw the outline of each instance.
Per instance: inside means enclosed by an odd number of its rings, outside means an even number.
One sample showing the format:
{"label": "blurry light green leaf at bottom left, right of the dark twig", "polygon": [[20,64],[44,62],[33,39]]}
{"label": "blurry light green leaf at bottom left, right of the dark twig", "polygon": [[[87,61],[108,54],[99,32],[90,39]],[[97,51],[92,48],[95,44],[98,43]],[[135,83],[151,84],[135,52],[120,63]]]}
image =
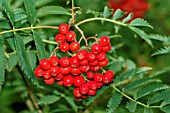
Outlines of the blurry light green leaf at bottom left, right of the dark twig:
{"label": "blurry light green leaf at bottom left, right of the dark twig", "polygon": [[56,95],[46,95],[38,100],[38,104],[53,104],[60,100],[60,97]]}

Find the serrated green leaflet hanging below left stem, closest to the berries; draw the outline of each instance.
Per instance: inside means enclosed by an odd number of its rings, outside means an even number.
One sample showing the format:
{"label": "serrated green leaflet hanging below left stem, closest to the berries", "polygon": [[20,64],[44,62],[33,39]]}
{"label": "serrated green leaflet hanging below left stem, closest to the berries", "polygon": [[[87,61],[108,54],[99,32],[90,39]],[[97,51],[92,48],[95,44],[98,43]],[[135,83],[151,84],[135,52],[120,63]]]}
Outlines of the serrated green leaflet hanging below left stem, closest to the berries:
{"label": "serrated green leaflet hanging below left stem, closest to the berries", "polygon": [[38,55],[39,60],[41,60],[43,58],[47,58],[47,54],[45,51],[45,45],[44,45],[40,35],[34,31],[33,36],[34,36],[34,41],[35,41],[37,55]]}

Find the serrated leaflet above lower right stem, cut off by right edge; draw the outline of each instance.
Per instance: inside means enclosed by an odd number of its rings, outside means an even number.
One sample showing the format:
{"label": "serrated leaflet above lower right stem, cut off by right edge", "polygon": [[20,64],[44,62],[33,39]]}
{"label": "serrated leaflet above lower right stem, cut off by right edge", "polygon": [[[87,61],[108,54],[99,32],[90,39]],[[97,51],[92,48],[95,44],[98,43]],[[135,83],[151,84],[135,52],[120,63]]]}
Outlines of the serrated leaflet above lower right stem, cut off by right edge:
{"label": "serrated leaflet above lower right stem, cut off by right edge", "polygon": [[151,99],[149,99],[148,104],[153,104],[165,99],[170,99],[170,90],[157,93]]}

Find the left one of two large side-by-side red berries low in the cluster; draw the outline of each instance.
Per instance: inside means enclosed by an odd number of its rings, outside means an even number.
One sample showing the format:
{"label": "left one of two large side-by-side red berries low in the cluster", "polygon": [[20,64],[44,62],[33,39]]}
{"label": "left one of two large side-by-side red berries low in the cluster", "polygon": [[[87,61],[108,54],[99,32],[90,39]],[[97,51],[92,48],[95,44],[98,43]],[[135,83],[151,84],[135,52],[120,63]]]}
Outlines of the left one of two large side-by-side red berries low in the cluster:
{"label": "left one of two large side-by-side red berries low in the cluster", "polygon": [[73,77],[71,75],[64,76],[63,85],[69,87],[73,84]]}

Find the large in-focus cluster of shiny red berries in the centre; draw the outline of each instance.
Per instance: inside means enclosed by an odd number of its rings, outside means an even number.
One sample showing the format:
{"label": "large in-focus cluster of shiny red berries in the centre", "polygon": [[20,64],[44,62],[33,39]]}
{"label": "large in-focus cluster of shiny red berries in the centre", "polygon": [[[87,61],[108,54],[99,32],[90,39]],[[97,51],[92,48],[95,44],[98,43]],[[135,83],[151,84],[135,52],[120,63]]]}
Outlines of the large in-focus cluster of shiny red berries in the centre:
{"label": "large in-focus cluster of shiny red berries in the centre", "polygon": [[49,59],[42,59],[34,71],[36,77],[44,78],[46,84],[56,81],[58,85],[66,87],[74,85],[73,93],[76,99],[86,98],[87,95],[94,96],[97,89],[114,79],[112,70],[104,71],[104,74],[98,72],[108,64],[106,52],[111,50],[109,37],[102,36],[100,43],[92,44],[88,51],[79,50],[80,44],[76,42],[76,34],[69,31],[67,24],[60,24],[58,30],[60,33],[56,35],[55,40],[60,44],[60,50],[70,50],[76,54],[71,58],[64,56],[59,59],[57,56],[51,56]]}

